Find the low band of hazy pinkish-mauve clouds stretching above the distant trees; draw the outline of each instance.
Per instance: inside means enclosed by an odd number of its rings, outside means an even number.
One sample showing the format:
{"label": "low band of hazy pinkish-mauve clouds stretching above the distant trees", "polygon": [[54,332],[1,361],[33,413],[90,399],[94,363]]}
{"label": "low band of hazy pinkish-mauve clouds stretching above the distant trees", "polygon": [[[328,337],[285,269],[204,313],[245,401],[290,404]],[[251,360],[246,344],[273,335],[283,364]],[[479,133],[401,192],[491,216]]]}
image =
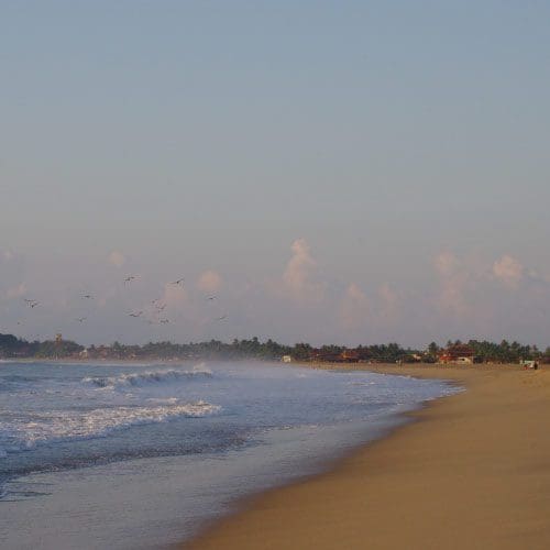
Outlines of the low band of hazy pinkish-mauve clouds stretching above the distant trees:
{"label": "low band of hazy pinkish-mauve clouds stretching above the distant trees", "polygon": [[[524,265],[514,251],[495,257],[442,250],[420,258],[424,272],[416,279],[395,270],[396,278],[384,279],[378,268],[376,275],[352,272],[350,280],[340,264],[327,261],[322,246],[314,254],[304,238],[288,244],[288,256],[282,255],[268,272],[257,270],[256,277],[239,271],[224,271],[222,277],[205,266],[191,286],[167,283],[174,266],[163,271],[155,265],[153,271],[146,262],[138,264],[139,284],[123,285],[124,273],[109,267],[125,265],[119,251],[99,256],[109,262],[90,258],[89,265],[75,265],[68,258],[59,268],[55,260],[45,268],[0,250],[4,330],[23,337],[58,330],[84,343],[251,336],[349,345],[421,345],[448,338],[549,343],[550,277],[543,266]],[[85,294],[94,299],[84,299]],[[205,299],[213,295],[216,299]],[[31,310],[23,297],[38,299],[41,307]],[[140,318],[128,317],[139,310],[144,311]],[[74,322],[81,317],[87,321]],[[161,319],[169,322],[161,324]]]}

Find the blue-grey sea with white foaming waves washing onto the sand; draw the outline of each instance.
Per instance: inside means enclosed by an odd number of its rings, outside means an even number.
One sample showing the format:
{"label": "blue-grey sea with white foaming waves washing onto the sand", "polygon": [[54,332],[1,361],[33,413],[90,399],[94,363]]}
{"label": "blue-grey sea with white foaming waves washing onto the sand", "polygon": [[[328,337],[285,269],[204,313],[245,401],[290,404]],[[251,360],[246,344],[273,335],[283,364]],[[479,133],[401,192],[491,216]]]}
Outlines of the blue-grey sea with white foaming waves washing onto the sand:
{"label": "blue-grey sea with white foaming waves washing onto the sand", "polygon": [[166,547],[452,392],[253,362],[0,363],[0,547]]}

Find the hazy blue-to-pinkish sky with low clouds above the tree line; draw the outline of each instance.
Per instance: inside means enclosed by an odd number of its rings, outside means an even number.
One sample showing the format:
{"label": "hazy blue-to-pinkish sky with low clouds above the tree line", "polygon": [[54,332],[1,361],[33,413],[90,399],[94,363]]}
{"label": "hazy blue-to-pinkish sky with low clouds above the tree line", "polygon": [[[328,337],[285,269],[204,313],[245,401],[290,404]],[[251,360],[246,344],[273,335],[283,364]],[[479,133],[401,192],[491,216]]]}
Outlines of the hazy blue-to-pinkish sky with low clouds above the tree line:
{"label": "hazy blue-to-pinkish sky with low clouds above the tree line", "polygon": [[0,332],[550,345],[550,3],[0,9]]}

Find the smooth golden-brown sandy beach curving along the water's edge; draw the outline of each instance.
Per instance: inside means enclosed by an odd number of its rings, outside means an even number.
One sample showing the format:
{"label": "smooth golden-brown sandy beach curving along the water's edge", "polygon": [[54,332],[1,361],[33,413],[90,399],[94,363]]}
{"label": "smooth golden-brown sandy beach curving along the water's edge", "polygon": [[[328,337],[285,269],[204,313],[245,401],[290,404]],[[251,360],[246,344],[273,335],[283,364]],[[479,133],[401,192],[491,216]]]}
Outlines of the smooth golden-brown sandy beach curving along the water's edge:
{"label": "smooth golden-brown sandy beach curving along the water's edge", "polygon": [[242,503],[186,549],[548,549],[550,370],[372,366],[468,391],[324,474]]}

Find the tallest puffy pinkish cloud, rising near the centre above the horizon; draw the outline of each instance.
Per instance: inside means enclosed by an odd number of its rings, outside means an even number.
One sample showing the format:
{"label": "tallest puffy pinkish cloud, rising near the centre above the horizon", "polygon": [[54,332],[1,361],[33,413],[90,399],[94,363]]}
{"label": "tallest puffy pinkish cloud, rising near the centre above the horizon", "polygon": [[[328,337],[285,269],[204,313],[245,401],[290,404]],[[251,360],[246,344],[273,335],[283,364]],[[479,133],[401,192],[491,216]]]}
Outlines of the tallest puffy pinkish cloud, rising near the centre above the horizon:
{"label": "tallest puffy pinkish cloud, rising near the centre above the horizon", "polygon": [[305,239],[294,241],[293,257],[283,274],[286,289],[299,300],[321,301],[324,285],[314,280],[317,262],[311,256],[309,244]]}

